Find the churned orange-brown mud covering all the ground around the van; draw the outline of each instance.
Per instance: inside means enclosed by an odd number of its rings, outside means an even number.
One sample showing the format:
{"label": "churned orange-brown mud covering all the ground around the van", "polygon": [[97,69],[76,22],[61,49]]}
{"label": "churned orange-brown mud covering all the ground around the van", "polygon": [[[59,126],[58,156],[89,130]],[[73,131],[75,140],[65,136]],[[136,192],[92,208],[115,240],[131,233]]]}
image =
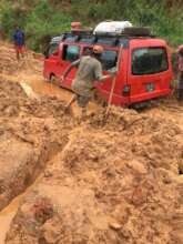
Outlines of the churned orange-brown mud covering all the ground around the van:
{"label": "churned orange-brown mud covering all the ground around the van", "polygon": [[33,55],[20,65],[0,48],[0,244],[183,243],[183,106],[112,108],[104,121],[90,104],[79,124]]}

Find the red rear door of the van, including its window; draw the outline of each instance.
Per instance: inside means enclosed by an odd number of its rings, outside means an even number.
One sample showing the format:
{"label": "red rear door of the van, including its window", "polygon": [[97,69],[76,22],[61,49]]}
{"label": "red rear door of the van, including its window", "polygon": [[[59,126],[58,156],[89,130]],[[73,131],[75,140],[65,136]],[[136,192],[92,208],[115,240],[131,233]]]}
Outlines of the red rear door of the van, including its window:
{"label": "red rear door of the van, including its window", "polygon": [[170,93],[172,67],[164,41],[131,40],[129,58],[130,103]]}

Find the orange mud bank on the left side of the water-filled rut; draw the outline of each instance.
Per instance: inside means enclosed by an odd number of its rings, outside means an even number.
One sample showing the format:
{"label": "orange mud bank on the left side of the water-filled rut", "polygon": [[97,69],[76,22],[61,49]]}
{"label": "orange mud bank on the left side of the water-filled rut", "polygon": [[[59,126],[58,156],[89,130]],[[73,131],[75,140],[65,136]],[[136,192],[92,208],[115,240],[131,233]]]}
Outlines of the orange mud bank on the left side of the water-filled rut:
{"label": "orange mud bank on the left side of the water-filled rut", "polygon": [[30,100],[19,83],[0,81],[0,210],[20,194],[68,141],[70,119],[55,99]]}

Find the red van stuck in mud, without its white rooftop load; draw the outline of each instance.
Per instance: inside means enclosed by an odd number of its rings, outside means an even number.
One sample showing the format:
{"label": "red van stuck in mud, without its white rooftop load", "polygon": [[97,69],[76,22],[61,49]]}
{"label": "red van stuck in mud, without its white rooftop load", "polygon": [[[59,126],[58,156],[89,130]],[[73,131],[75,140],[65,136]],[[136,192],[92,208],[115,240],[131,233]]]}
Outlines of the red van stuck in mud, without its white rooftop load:
{"label": "red van stuck in mud, without its white rooftop load", "polygon": [[[119,64],[113,104],[144,104],[171,93],[173,71],[170,49],[164,40],[152,37],[79,37],[68,33],[60,39],[54,38],[44,61],[44,78],[60,78],[70,63],[81,58],[85,49],[91,49],[93,44],[104,48],[101,57],[103,73]],[[75,72],[77,69],[72,69],[61,87],[70,89]],[[105,101],[111,85],[112,79],[95,82],[95,88]]]}

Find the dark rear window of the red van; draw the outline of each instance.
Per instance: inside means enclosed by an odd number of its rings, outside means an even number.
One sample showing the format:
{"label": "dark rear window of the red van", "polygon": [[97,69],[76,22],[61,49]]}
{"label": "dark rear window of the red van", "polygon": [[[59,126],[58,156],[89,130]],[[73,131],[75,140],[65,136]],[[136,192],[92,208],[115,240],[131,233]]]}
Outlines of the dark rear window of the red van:
{"label": "dark rear window of the red van", "polygon": [[159,73],[167,69],[164,48],[141,48],[132,52],[132,73],[135,75]]}

